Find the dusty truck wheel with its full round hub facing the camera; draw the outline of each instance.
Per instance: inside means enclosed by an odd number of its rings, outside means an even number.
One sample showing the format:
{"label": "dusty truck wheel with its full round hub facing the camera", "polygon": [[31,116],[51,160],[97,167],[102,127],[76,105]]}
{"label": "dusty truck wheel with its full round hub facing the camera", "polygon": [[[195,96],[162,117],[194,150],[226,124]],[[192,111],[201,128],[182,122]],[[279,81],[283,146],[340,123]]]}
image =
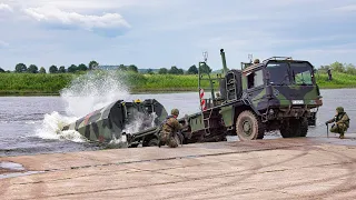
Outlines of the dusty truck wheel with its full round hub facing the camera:
{"label": "dusty truck wheel with its full round hub facing the camera", "polygon": [[243,111],[236,120],[236,134],[241,141],[263,139],[265,130],[265,124],[249,110]]}

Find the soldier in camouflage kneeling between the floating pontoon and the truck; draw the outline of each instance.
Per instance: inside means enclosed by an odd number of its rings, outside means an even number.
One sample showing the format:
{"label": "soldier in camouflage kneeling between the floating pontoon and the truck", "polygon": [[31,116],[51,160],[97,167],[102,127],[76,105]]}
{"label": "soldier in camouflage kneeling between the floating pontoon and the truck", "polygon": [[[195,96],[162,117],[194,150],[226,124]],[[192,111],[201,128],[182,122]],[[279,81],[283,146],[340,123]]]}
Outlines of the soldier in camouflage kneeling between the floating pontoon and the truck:
{"label": "soldier in camouflage kneeling between the floating pontoon and the truck", "polygon": [[180,131],[184,127],[178,122],[177,117],[179,116],[178,109],[171,110],[171,116],[168,116],[166,120],[162,122],[162,128],[160,132],[160,146],[167,144],[170,148],[176,148],[179,144],[178,131]]}

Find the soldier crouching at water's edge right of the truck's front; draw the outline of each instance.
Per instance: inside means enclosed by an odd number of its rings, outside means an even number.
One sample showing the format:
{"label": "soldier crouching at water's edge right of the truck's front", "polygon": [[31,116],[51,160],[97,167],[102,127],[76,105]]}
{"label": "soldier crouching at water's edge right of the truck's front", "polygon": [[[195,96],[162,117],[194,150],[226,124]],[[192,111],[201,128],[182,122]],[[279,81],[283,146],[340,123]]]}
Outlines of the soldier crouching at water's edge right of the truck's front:
{"label": "soldier crouching at water's edge right of the truck's front", "polygon": [[335,117],[326,121],[325,124],[328,124],[332,122],[335,122],[335,123],[332,126],[330,131],[335,133],[339,133],[340,134],[339,138],[344,139],[344,133],[345,131],[347,131],[349,127],[349,118],[347,113],[344,111],[343,107],[337,107]]}

